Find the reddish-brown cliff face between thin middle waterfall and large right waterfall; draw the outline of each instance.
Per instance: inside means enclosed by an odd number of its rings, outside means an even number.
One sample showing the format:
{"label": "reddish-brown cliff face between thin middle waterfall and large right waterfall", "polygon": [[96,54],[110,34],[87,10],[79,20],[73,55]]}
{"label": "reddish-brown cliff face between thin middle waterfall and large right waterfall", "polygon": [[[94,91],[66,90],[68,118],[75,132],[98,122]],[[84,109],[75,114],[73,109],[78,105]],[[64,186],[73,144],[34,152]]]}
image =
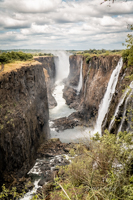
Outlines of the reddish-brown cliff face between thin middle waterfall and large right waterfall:
{"label": "reddish-brown cliff face between thin middle waterfall and large right waterfall", "polygon": [[84,59],[82,102],[86,122],[97,117],[100,102],[119,59],[119,56],[93,57],[89,64]]}

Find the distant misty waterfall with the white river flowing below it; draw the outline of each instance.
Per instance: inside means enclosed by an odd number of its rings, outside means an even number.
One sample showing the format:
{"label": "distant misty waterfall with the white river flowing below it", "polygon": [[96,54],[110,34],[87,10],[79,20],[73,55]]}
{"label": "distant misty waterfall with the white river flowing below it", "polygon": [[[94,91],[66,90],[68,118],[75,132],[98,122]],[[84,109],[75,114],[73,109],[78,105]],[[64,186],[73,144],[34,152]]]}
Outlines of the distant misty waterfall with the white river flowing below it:
{"label": "distant misty waterfall with the white river flowing below it", "polygon": [[50,120],[67,117],[75,110],[70,109],[63,98],[64,83],[62,82],[69,75],[69,53],[66,51],[55,51],[52,52],[55,56],[55,67],[56,67],[56,82],[53,96],[57,102],[57,106],[49,110]]}

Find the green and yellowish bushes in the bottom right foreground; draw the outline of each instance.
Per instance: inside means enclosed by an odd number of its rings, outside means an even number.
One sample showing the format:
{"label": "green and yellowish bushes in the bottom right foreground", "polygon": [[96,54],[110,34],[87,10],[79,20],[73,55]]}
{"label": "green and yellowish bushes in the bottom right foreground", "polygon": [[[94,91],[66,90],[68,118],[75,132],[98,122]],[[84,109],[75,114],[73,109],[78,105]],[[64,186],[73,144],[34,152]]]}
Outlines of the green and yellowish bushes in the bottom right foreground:
{"label": "green and yellowish bushes in the bottom right foreground", "polygon": [[56,182],[61,189],[51,199],[133,199],[132,134],[116,136],[106,131],[88,143],[89,150],[82,149],[71,165],[60,169],[61,178]]}

